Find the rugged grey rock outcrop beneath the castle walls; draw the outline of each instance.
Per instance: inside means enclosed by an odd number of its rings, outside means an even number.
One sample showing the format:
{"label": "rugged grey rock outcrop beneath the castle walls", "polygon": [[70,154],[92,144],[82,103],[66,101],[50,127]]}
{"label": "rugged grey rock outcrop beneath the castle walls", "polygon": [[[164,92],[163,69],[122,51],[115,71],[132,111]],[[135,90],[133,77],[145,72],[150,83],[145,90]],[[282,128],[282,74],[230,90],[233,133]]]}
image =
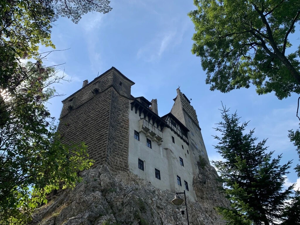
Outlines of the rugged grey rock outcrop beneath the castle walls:
{"label": "rugged grey rock outcrop beneath the castle walls", "polygon": [[[190,225],[223,225],[215,206],[228,206],[219,192],[217,173],[198,162],[193,188],[198,202],[187,199]],[[32,224],[43,225],[185,225],[180,206],[170,201],[174,193],[155,188],[130,172],[112,174],[107,166],[82,173],[73,190],[63,190],[38,208]],[[163,181],[162,181],[163,182]],[[182,196],[183,197],[183,196]]]}

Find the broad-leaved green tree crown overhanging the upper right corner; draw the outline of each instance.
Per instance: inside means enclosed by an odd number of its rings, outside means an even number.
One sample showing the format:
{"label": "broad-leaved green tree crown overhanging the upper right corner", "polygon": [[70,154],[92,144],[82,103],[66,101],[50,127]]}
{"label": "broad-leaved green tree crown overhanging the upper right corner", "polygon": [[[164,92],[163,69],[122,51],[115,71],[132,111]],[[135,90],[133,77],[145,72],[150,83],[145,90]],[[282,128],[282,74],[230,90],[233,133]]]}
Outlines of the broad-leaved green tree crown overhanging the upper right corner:
{"label": "broad-leaved green tree crown overhanging the upper right corner", "polygon": [[[279,99],[300,93],[300,45],[290,34],[300,21],[298,0],[194,0],[192,53],[201,58],[211,90],[256,86]],[[299,26],[297,26],[299,28]],[[298,44],[295,42],[294,44]]]}

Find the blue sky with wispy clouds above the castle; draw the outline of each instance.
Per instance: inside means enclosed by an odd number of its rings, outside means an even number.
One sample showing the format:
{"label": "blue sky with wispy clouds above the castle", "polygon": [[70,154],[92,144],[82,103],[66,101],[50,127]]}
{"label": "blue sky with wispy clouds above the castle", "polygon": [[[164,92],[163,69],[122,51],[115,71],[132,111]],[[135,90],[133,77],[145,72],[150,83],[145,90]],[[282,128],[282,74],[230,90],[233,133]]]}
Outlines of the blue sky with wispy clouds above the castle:
{"label": "blue sky with wispy clouds above the castle", "polygon": [[[160,116],[170,112],[180,86],[187,98],[192,98],[210,160],[220,159],[211,135],[217,134],[213,127],[221,119],[218,109],[222,101],[232,112],[237,110],[242,121],[250,120],[248,128],[256,128],[258,140],[268,138],[274,156],[283,153],[282,163],[294,159],[295,167],[298,156],[287,134],[298,128],[298,96],[280,101],[274,94],[258,96],[254,88],[227,94],[210,91],[200,58],[190,51],[194,29],[187,13],[195,8],[192,0],[119,0],[111,1],[111,6],[110,13],[88,13],[78,24],[67,18],[55,22],[52,41],[56,49],[70,49],[52,52],[46,64],[65,63],[59,66],[59,73],[64,71],[72,82],[56,85],[65,96],[47,104],[52,116],[59,117],[61,100],[80,89],[83,80],[91,81],[98,72],[114,66],[136,83],[131,89],[133,96],[150,101],[157,98]],[[44,50],[49,49],[41,47],[41,52]],[[287,184],[298,181],[300,185],[294,170],[290,171]]]}

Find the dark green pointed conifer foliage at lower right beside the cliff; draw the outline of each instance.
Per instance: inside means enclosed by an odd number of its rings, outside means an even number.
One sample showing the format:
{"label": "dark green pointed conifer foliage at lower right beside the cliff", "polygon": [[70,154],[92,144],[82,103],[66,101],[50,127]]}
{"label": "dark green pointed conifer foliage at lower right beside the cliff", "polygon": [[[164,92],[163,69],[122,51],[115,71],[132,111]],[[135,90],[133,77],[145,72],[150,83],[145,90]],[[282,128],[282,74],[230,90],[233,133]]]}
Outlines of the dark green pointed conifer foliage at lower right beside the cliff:
{"label": "dark green pointed conifer foliage at lower right beside the cliff", "polygon": [[[266,152],[266,140],[257,143],[254,130],[246,133],[248,122],[240,123],[237,113],[224,107],[223,121],[218,123],[215,148],[224,161],[213,161],[220,173],[231,209],[217,210],[231,225],[299,224],[299,192],[292,195],[293,185],[283,189],[291,161],[280,165],[281,155]],[[290,201],[290,203],[289,203]]]}

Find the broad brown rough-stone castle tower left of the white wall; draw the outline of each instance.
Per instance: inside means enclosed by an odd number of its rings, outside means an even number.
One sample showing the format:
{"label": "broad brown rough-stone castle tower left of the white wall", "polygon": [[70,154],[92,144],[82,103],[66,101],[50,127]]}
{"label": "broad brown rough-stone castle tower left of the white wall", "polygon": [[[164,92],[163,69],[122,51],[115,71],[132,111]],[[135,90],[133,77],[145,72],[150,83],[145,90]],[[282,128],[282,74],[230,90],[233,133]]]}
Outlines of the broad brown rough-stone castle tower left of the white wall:
{"label": "broad brown rough-stone castle tower left of the white wall", "polygon": [[128,170],[129,103],[134,84],[115,67],[62,101],[58,131],[67,143],[84,141],[89,156],[113,171]]}

